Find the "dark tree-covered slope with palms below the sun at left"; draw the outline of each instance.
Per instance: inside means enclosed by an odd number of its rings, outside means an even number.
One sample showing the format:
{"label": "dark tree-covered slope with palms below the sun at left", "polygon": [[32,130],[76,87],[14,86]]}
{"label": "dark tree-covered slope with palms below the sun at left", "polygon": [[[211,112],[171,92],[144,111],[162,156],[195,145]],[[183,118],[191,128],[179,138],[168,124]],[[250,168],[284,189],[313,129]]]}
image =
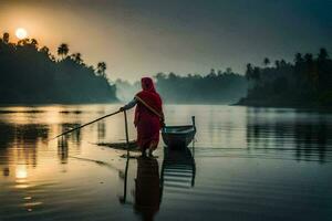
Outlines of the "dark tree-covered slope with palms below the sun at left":
{"label": "dark tree-covered slope with palms below the sun at left", "polygon": [[4,33],[0,39],[0,103],[96,103],[114,102],[115,86],[106,78],[104,62],[87,66],[81,53],[58,49],[60,60],[34,39],[18,43]]}

